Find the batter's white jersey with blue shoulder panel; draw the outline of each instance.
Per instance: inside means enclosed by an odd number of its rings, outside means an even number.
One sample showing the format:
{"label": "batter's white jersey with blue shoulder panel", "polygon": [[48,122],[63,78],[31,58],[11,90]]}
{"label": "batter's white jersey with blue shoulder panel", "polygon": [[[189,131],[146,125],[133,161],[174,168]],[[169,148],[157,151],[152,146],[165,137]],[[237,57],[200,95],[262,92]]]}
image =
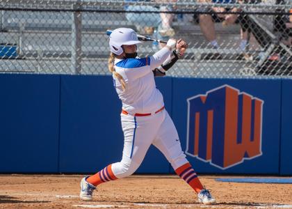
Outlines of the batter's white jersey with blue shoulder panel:
{"label": "batter's white jersey with blue shoulder panel", "polygon": [[156,88],[152,70],[159,67],[170,56],[170,49],[164,47],[153,56],[134,59],[115,59],[115,71],[126,83],[125,91],[119,80],[114,85],[122,100],[122,109],[129,114],[149,114],[164,106],[163,95]]}

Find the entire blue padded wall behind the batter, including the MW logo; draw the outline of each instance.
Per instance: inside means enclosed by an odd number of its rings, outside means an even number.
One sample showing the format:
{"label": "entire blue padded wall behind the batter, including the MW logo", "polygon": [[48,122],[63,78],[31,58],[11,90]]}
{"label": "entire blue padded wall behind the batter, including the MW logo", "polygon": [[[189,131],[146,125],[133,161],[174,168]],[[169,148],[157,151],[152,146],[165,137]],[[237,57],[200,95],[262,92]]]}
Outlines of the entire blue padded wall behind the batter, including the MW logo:
{"label": "entire blue padded wall behind the batter, including the MW logo", "polygon": [[[292,175],[291,79],[156,79],[197,173]],[[0,75],[0,173],[95,173],[122,158],[111,76]],[[173,173],[149,149],[136,173]]]}

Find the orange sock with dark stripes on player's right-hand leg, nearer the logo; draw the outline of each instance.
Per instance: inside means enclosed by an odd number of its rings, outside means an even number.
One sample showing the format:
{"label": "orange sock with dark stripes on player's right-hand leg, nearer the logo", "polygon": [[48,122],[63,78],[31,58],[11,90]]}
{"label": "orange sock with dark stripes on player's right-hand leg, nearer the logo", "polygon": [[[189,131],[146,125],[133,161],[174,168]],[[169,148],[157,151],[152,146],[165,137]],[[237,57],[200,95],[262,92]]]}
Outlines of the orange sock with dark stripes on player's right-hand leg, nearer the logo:
{"label": "orange sock with dark stripes on player's right-hand leg, nearer the logo", "polygon": [[199,178],[197,178],[197,173],[195,173],[190,163],[186,163],[177,168],[175,173],[177,173],[180,178],[184,179],[184,181],[188,183],[188,185],[190,185],[190,187],[192,187],[195,192],[199,193],[202,189],[204,189]]}

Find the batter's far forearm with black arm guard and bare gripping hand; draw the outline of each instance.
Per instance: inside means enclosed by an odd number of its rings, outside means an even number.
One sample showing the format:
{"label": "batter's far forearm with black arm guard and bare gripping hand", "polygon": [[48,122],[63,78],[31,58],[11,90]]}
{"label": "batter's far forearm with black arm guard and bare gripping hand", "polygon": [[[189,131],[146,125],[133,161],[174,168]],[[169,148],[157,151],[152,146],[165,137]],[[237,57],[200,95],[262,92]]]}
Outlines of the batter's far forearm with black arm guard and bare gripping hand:
{"label": "batter's far forearm with black arm guard and bare gripping hand", "polygon": [[184,56],[184,52],[188,48],[188,44],[179,39],[177,41],[176,49],[170,54],[168,59],[166,59],[162,65],[158,68],[155,68],[153,71],[155,77],[165,76],[166,71],[168,71],[182,56]]}

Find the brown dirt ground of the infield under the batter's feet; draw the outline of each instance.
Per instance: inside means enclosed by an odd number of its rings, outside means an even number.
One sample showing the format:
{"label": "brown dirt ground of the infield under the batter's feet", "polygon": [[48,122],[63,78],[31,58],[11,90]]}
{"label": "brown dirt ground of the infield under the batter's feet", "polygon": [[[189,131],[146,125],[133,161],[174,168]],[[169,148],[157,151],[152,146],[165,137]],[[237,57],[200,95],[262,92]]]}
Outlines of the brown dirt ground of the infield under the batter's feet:
{"label": "brown dirt ground of the infield under the batter's feet", "polygon": [[[200,176],[218,202],[197,203],[177,176],[131,176],[99,185],[94,201],[79,199],[79,175],[0,175],[0,208],[292,208],[291,184],[223,183]],[[238,176],[236,176],[238,178]]]}

